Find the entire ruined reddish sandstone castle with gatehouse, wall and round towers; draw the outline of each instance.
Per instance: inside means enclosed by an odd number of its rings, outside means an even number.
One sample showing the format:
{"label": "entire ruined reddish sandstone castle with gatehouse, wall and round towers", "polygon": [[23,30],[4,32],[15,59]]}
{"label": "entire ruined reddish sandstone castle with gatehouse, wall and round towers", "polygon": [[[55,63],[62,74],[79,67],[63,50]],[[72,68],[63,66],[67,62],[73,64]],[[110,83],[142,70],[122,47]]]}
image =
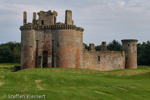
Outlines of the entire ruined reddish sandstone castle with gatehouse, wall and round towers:
{"label": "entire ruined reddish sandstone castle with gatehouse, wall and round towers", "polygon": [[102,42],[101,51],[85,49],[83,31],[74,25],[72,11],[66,10],[65,23],[57,22],[56,11],[33,13],[32,23],[27,23],[23,12],[21,30],[21,69],[68,67],[94,70],[137,68],[137,40],[122,40],[124,51],[108,51]]}

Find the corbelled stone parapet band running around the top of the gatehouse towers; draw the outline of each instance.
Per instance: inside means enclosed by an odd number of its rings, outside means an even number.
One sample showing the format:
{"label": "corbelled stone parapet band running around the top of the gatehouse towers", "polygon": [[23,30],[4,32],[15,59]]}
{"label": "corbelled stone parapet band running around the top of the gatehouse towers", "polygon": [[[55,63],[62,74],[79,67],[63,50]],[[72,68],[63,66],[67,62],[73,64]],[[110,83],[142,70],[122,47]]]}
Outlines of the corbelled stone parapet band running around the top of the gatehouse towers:
{"label": "corbelled stone parapet band running around the top of the gatehouse towers", "polygon": [[55,29],[70,29],[76,31],[84,31],[81,27],[76,27],[76,25],[67,25],[67,24],[55,24],[55,25],[33,25],[27,24],[20,27],[20,30],[55,30]]}

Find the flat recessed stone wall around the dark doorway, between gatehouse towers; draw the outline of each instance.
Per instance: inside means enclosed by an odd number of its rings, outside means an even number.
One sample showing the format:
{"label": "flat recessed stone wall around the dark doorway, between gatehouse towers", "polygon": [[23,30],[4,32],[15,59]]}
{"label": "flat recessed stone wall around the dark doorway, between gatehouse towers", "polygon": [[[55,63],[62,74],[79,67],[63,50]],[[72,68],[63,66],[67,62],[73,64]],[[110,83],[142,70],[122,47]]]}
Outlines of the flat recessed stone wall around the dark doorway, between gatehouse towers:
{"label": "flat recessed stone wall around the dark doorway, between gatehouse towers", "polygon": [[37,66],[43,67],[43,52],[48,52],[48,66],[52,67],[52,34],[51,30],[36,30]]}

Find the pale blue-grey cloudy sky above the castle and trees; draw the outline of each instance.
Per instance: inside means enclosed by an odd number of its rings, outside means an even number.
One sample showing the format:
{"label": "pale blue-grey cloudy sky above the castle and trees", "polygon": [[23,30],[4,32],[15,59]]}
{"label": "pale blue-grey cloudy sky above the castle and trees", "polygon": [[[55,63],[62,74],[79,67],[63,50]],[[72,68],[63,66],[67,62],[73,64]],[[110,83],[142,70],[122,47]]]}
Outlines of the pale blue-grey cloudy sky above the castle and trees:
{"label": "pale blue-grey cloudy sky above the castle and trees", "polygon": [[57,11],[57,22],[72,10],[74,24],[84,28],[83,41],[100,45],[112,40],[150,40],[150,0],[0,0],[0,43],[21,41],[23,12]]}

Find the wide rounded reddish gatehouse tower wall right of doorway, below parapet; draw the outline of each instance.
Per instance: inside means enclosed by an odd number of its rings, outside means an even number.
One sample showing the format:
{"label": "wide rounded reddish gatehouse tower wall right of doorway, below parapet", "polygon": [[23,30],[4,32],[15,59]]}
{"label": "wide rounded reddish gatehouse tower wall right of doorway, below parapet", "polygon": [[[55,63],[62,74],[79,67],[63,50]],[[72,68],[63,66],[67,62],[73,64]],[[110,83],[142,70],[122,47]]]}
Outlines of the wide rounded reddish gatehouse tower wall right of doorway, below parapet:
{"label": "wide rounded reddish gatehouse tower wall right of doorway, below parapet", "polygon": [[54,67],[81,68],[83,33],[75,29],[56,29],[52,33]]}

